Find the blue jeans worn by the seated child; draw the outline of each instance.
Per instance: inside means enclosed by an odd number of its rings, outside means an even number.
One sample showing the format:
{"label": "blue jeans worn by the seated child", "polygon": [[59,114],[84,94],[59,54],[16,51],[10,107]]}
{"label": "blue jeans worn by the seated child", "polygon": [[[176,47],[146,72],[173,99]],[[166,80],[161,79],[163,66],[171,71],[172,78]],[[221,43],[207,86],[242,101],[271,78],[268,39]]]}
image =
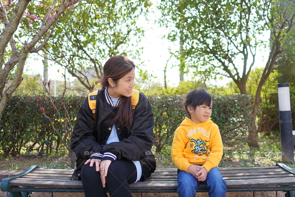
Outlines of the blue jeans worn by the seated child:
{"label": "blue jeans worn by the seated child", "polygon": [[[178,197],[194,197],[201,181],[186,171],[179,171],[177,175],[179,193]],[[226,181],[223,180],[218,167],[213,167],[207,174],[203,183],[209,190],[209,197],[225,197]]]}

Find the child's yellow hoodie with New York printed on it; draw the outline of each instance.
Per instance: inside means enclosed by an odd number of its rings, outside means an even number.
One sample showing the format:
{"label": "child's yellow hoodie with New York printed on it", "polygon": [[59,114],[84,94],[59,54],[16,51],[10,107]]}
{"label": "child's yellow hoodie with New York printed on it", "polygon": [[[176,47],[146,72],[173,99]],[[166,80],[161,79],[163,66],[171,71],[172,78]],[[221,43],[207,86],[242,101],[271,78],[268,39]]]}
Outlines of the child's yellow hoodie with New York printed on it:
{"label": "child's yellow hoodie with New York printed on it", "polygon": [[185,117],[176,129],[172,143],[172,161],[179,170],[192,164],[209,170],[217,167],[222,157],[222,140],[218,126],[209,118],[196,124]]}

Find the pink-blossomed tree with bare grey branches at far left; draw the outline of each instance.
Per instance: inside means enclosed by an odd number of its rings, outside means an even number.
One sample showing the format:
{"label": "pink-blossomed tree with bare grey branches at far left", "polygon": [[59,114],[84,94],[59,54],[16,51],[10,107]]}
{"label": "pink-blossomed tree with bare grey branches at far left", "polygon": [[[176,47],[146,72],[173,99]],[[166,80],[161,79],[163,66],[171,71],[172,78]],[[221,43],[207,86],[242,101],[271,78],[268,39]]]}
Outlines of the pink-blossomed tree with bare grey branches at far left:
{"label": "pink-blossomed tree with bare grey branches at far left", "polygon": [[[8,99],[22,82],[28,55],[42,49],[57,20],[63,13],[73,14],[69,8],[78,1],[48,0],[43,5],[31,0],[7,0],[6,4],[0,0],[0,17],[5,25],[0,26],[0,118]],[[8,77],[13,77],[13,81],[5,86]]]}

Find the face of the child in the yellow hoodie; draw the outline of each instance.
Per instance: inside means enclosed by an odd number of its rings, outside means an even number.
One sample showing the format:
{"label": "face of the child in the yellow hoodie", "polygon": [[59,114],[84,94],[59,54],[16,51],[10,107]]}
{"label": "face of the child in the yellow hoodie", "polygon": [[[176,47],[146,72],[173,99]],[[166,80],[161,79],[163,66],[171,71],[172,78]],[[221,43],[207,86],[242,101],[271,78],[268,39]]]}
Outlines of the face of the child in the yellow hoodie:
{"label": "face of the child in the yellow hoodie", "polygon": [[196,123],[202,123],[206,122],[212,113],[212,101],[210,106],[207,106],[205,104],[197,106],[195,109],[192,108],[191,106],[188,106],[188,111],[191,114],[191,120]]}

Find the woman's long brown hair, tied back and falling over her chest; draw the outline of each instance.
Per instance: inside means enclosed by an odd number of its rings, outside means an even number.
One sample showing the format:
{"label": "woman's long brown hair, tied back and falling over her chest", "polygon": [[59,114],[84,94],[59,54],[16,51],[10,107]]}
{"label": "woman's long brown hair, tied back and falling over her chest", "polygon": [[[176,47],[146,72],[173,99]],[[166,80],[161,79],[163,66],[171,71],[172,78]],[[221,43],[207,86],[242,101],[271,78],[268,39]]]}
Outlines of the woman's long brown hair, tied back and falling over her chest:
{"label": "woman's long brown hair, tied back and falling over her chest", "polygon": [[[100,80],[101,87],[108,88],[110,86],[108,78],[111,78],[113,82],[117,84],[120,78],[131,72],[134,68],[135,64],[128,59],[128,57],[115,55],[109,58],[104,64],[104,74]],[[118,128],[131,129],[133,124],[131,98],[122,96],[121,103],[117,107],[117,114],[115,118],[111,120],[111,124],[118,123]]]}

